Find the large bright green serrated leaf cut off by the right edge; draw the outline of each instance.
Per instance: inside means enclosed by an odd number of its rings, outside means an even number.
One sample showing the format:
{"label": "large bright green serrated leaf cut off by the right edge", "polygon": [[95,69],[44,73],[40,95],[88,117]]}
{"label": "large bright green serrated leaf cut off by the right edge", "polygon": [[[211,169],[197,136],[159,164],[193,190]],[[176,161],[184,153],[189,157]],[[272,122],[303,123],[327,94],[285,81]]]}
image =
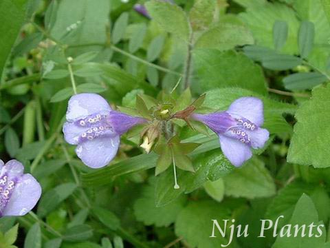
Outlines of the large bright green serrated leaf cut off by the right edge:
{"label": "large bright green serrated leaf cut off by the right edge", "polygon": [[[330,167],[328,147],[330,145],[330,87],[317,87],[311,100],[301,105],[296,113],[287,161],[318,168]],[[312,117],[312,118],[311,118]]]}

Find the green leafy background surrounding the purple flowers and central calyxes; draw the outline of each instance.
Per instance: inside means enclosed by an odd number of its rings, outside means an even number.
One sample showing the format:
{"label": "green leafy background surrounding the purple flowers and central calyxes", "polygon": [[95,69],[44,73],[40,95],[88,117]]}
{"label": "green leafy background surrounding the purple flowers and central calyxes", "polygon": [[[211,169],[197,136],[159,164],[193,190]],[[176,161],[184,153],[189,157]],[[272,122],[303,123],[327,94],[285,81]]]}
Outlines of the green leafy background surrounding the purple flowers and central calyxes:
{"label": "green leafy background surrounding the purple flowers and central calyxes", "polygon": [[[142,1],[141,3],[144,3]],[[212,219],[250,225],[230,247],[330,247],[329,0],[0,1],[0,154],[43,187],[30,214],[0,219],[0,247],[220,247]],[[157,155],[122,137],[111,165],[83,165],[61,134],[72,90],[134,107],[182,77],[205,107],[265,105],[271,139],[235,169],[214,135],[180,127],[195,173],[154,176]],[[181,85],[177,93],[181,91]],[[257,238],[260,219],[323,223],[320,238]],[[228,230],[229,231],[229,230]]]}

